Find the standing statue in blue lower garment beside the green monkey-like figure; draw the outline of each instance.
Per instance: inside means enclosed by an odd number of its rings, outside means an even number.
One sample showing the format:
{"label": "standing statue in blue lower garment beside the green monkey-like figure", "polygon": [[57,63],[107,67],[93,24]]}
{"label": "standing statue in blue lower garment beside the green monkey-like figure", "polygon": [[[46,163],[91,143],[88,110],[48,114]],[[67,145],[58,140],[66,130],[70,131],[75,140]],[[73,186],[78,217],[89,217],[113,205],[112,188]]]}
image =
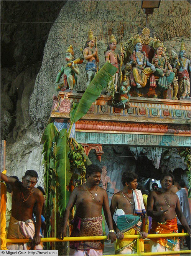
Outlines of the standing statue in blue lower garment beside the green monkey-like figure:
{"label": "standing statue in blue lower garment beside the green monkey-like figure", "polygon": [[93,32],[89,30],[88,38],[86,42],[86,48],[83,50],[84,59],[87,60],[86,63],[86,88],[90,84],[91,80],[95,77],[97,72],[97,64],[99,62],[99,57],[97,55],[97,47],[93,49],[95,45],[95,37]]}

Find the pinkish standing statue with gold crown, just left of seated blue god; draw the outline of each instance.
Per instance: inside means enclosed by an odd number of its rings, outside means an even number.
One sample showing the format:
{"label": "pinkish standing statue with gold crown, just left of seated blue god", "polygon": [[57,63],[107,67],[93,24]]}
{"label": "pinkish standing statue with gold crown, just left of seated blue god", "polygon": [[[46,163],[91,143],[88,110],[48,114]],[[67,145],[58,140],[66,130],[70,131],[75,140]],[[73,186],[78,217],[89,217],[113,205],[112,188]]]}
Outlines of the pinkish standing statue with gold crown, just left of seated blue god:
{"label": "pinkish standing statue with gold crown, just left of seated blue god", "polygon": [[115,73],[115,75],[113,75],[113,83],[114,83],[115,91],[117,91],[117,82],[118,82],[118,74],[119,74],[118,63],[122,61],[120,56],[122,56],[122,58],[124,57],[122,52],[120,52],[120,55],[117,54],[117,52],[115,52],[116,46],[117,46],[117,41],[115,40],[114,35],[112,34],[110,36],[107,52],[105,52],[105,62],[109,61],[110,64],[112,64],[114,67],[117,67],[117,72]]}

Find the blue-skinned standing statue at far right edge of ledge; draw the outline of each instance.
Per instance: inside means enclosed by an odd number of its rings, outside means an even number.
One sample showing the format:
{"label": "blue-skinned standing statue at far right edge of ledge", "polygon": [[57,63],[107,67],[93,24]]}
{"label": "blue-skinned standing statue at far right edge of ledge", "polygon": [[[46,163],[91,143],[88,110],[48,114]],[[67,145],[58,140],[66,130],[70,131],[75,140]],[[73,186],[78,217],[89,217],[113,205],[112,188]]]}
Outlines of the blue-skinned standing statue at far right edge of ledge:
{"label": "blue-skinned standing statue at far right edge of ledge", "polygon": [[[179,96],[180,99],[190,99],[190,78],[188,74],[188,66],[190,70],[190,60],[186,59],[186,48],[184,42],[181,43],[181,49],[178,57],[180,63],[178,70]],[[175,60],[175,68],[178,68],[178,60]]]}

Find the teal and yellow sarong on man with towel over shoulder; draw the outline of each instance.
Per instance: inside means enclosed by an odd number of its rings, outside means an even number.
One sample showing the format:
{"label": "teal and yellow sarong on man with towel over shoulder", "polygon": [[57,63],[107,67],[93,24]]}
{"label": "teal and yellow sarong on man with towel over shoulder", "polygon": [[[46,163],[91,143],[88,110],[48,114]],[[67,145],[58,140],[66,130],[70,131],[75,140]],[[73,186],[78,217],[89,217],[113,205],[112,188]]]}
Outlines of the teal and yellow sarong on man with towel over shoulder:
{"label": "teal and yellow sarong on man with towel over shoulder", "polygon": [[[134,221],[133,221],[134,220]],[[129,223],[128,223],[128,222]],[[124,236],[126,235],[138,235],[141,231],[141,217],[134,216],[132,214],[120,215],[117,218],[117,228],[123,232]],[[137,239],[117,239],[115,242],[115,254],[119,254],[125,248],[130,248],[131,250],[137,252]],[[143,239],[140,239],[140,250],[144,253],[144,242]]]}

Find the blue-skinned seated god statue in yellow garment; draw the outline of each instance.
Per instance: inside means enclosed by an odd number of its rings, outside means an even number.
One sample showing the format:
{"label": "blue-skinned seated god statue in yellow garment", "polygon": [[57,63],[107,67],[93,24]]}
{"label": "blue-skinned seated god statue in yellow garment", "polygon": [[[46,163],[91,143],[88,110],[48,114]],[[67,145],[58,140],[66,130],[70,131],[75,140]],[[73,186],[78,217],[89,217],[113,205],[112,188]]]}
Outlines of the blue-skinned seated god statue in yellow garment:
{"label": "blue-skinned seated god statue in yellow garment", "polygon": [[133,40],[133,45],[135,48],[129,62],[132,65],[131,85],[143,88],[147,84],[147,76],[155,72],[155,65],[148,61],[146,53],[142,51],[142,40],[139,35]]}

